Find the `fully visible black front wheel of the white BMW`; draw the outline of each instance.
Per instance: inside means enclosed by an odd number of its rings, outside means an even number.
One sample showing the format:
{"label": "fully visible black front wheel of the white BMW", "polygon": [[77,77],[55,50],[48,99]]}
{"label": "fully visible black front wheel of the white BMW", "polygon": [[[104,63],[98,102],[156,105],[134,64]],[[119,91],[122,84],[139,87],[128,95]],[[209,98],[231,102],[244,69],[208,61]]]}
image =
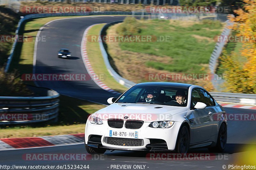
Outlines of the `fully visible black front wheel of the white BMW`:
{"label": "fully visible black front wheel of the white BMW", "polygon": [[188,127],[182,125],[178,135],[175,152],[185,154],[189,148],[189,130]]}

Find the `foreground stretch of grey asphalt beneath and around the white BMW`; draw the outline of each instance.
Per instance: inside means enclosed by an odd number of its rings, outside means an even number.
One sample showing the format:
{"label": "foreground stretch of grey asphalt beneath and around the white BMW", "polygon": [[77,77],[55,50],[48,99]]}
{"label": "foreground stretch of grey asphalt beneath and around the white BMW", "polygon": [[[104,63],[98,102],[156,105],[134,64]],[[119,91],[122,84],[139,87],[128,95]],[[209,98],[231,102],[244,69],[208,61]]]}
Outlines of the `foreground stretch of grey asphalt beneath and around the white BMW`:
{"label": "foreground stretch of grey asphalt beneath and around the white BMW", "polygon": [[[227,113],[255,114],[255,110],[226,108]],[[228,144],[223,153],[213,153],[207,149],[193,149],[189,153],[209,153],[210,160],[154,160],[146,157],[147,152],[107,151],[101,157],[86,156],[88,160],[26,160],[25,154],[84,154],[84,144],[55,146],[33,149],[1,151],[0,165],[24,166],[58,166],[58,165],[89,165],[90,169],[111,169],[111,165],[145,165],[145,169],[222,169],[223,165],[235,164],[234,159],[240,158],[241,148],[245,144],[256,145],[255,121],[228,121]],[[254,140],[253,140],[254,139]],[[109,168],[108,168],[109,167]],[[113,168],[112,168],[113,169]],[[132,168],[133,169],[133,168]],[[228,168],[227,168],[228,169]]]}

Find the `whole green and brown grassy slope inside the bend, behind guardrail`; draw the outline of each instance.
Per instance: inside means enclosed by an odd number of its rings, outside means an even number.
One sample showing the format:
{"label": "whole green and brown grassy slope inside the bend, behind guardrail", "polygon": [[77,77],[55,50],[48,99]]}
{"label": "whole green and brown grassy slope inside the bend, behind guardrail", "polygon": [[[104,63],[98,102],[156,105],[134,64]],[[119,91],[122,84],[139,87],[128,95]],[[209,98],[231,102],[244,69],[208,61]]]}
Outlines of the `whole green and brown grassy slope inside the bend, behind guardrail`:
{"label": "whole green and brown grassy slope inside the bend, behind guardrail", "polygon": [[[148,81],[147,73],[209,73],[208,63],[216,44],[214,36],[220,35],[224,26],[222,23],[210,20],[138,22],[138,35],[152,35],[158,40],[160,36],[170,36],[170,41],[107,42],[112,65],[122,77],[143,82]],[[117,35],[121,24],[111,26],[107,34]]]}

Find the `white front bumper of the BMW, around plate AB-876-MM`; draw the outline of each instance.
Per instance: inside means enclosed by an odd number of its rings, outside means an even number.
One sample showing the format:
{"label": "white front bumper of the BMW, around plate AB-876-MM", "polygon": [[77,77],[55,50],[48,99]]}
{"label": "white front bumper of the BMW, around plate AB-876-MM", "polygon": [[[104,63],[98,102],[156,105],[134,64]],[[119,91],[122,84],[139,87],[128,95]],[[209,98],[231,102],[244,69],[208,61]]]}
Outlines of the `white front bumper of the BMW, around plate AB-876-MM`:
{"label": "white front bumper of the BMW, around plate AB-876-MM", "polygon": [[[125,122],[124,122],[125,123]],[[108,126],[107,120],[103,120],[103,124],[92,124],[87,120],[85,127],[85,145],[95,148],[105,148],[113,150],[137,150],[137,151],[170,151],[175,150],[176,140],[181,126],[181,122],[175,122],[171,128],[150,128],[148,125],[150,122],[144,122],[140,129],[126,129],[123,128],[111,128]],[[110,130],[138,132],[138,139],[143,139],[144,144],[142,146],[123,146],[108,144],[105,142],[106,137],[109,136]],[[92,136],[98,136],[98,139],[92,138]],[[119,137],[125,138],[125,137]],[[155,143],[152,141],[161,141],[161,143]],[[164,142],[163,142],[164,141]]]}

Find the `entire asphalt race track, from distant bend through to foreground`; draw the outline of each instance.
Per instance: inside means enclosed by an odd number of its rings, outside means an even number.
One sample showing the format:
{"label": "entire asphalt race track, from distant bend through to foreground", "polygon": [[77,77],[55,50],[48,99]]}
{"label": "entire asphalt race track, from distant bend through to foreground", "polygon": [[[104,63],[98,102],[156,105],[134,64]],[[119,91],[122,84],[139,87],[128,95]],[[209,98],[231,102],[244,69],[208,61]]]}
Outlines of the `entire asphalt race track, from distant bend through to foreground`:
{"label": "entire asphalt race track, from distant bend through to foreground", "polygon": [[[46,42],[38,42],[36,55],[36,73],[87,73],[80,52],[80,44],[84,30],[93,24],[108,23],[121,20],[124,17],[89,17],[57,20],[47,25],[40,36],[46,36]],[[73,59],[57,58],[60,48],[68,48]],[[38,81],[39,86],[48,87],[61,94],[76,98],[106,103],[109,97],[116,96],[98,87],[92,80],[89,81]],[[251,109],[225,108],[230,114],[252,114]],[[234,160],[241,155],[241,147],[245,144],[256,144],[255,121],[228,121],[228,144],[223,153],[211,156],[210,160],[150,160],[146,158],[147,152],[133,151],[107,151],[99,156],[87,156],[87,160],[26,160],[24,154],[49,153],[86,153],[84,144],[43,147],[32,149],[19,149],[1,151],[0,165],[89,165],[91,169],[114,169],[113,165],[142,165],[135,169],[222,169],[223,165],[235,164]],[[190,153],[210,153],[207,149],[189,150]],[[211,154],[212,155],[212,154]],[[112,165],[112,166],[111,166]],[[144,165],[144,166],[143,166]],[[67,167],[67,166],[66,166]],[[112,168],[111,168],[112,167]],[[63,168],[65,169],[65,168]],[[227,168],[228,169],[228,168]]]}

